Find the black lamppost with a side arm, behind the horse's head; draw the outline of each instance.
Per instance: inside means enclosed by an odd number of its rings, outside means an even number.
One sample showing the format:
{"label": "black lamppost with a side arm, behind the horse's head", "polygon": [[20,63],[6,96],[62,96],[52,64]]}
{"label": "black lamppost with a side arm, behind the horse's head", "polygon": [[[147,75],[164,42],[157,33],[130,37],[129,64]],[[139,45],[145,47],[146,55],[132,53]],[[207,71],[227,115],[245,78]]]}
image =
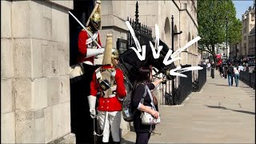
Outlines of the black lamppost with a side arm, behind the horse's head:
{"label": "black lamppost with a side arm, behind the horse's head", "polygon": [[[179,33],[174,33],[174,15],[171,15],[171,50],[173,50],[174,53],[174,35],[177,34],[182,34],[182,31],[180,31]],[[173,105],[174,105],[174,79],[171,80],[171,95],[173,98]]]}

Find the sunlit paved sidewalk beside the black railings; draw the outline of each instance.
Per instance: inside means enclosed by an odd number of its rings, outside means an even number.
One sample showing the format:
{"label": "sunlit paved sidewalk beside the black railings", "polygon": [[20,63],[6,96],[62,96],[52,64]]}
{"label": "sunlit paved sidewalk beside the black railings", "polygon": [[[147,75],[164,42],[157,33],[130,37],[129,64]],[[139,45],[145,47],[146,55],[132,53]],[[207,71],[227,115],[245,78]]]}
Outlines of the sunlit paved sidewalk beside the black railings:
{"label": "sunlit paved sidewalk beside the black railings", "polygon": [[[226,78],[207,72],[206,85],[183,106],[160,106],[162,133],[149,143],[255,143],[255,90],[239,81],[228,86]],[[134,131],[122,143],[134,143]]]}

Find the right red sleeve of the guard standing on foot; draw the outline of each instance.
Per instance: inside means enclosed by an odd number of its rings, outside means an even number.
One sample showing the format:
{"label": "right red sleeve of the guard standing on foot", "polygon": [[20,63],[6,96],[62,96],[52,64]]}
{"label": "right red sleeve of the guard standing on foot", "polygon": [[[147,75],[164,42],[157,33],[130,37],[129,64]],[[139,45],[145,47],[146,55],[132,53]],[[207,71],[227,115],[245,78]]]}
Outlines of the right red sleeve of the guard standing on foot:
{"label": "right red sleeve of the guard standing on foot", "polygon": [[115,81],[117,82],[117,93],[118,97],[126,96],[126,86],[123,83],[123,74],[122,70],[116,69]]}

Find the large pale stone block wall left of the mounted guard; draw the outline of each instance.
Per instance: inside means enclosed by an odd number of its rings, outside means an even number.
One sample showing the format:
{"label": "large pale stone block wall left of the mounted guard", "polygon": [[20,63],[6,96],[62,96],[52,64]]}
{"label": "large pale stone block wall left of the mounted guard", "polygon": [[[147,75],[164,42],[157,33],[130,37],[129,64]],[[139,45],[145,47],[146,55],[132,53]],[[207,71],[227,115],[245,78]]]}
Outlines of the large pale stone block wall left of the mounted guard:
{"label": "large pale stone block wall left of the mounted guard", "polygon": [[73,1],[1,1],[2,143],[74,142],[69,9]]}

